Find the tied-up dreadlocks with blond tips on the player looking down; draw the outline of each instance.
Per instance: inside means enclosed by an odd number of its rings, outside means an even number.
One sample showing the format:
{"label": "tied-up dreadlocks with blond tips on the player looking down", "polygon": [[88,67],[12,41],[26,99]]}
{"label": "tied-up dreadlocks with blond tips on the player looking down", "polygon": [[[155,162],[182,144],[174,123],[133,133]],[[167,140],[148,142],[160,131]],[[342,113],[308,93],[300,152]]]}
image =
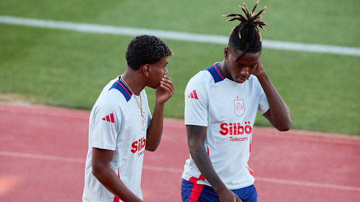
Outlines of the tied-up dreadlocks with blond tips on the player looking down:
{"label": "tied-up dreadlocks with blond tips on the player looking down", "polygon": [[226,21],[233,21],[235,19],[241,21],[240,24],[231,29],[228,47],[241,50],[242,55],[246,52],[256,53],[261,51],[261,34],[258,27],[266,31],[263,26],[269,26],[266,22],[260,21],[267,6],[262,8],[257,14],[254,13],[258,2],[256,2],[251,12],[248,11],[246,4],[243,3],[243,6],[239,5],[242,9],[242,14],[231,13],[222,15],[224,17],[233,17]]}

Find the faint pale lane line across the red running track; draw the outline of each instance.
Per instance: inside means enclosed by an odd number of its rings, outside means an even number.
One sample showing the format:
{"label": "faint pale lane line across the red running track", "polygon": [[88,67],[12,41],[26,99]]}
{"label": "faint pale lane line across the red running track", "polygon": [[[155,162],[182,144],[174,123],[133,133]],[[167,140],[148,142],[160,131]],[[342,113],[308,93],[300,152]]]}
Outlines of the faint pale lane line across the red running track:
{"label": "faint pale lane line across the red running track", "polygon": [[[81,163],[81,164],[85,163],[84,159],[56,157],[56,156],[49,156],[49,155],[27,154],[27,153],[8,152],[8,151],[0,151],[0,156],[10,156],[10,157],[20,157],[20,158],[22,157],[22,158],[50,160],[50,161],[63,161],[63,162]],[[166,168],[166,167],[159,167],[159,166],[143,166],[143,169],[149,170],[149,171],[176,173],[179,175],[183,171],[181,169]],[[282,179],[277,179],[277,178],[256,177],[256,181],[360,192],[360,187],[330,185],[330,184],[324,184],[324,183],[311,183],[311,182],[302,182],[302,181],[293,181],[293,180],[282,180]]]}

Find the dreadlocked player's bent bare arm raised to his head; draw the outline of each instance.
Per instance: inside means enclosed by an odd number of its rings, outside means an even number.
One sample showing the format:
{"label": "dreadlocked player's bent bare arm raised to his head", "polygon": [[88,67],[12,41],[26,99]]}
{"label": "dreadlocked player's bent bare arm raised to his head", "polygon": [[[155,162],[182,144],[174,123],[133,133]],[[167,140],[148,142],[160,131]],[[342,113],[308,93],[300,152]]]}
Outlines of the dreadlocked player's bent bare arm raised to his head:
{"label": "dreadlocked player's bent bare arm raised to his head", "polygon": [[252,73],[258,79],[263,91],[265,92],[269,110],[263,116],[279,131],[287,131],[291,127],[290,110],[286,103],[282,100],[281,96],[272,85],[269,77],[267,76],[261,62],[261,58],[257,63],[256,69]]}

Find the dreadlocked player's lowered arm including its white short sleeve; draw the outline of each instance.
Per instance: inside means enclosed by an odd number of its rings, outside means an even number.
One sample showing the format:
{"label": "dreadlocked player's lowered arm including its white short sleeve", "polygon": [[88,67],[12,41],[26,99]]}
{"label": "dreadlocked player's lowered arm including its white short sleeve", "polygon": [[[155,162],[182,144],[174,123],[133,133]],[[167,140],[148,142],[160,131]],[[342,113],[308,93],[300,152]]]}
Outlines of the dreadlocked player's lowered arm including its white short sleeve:
{"label": "dreadlocked player's lowered arm including its white short sleeve", "polygon": [[[185,89],[185,125],[187,133],[187,145],[192,160],[195,162],[200,173],[210,183],[219,196],[220,202],[240,202],[238,197],[228,190],[216,174],[211,160],[204,147],[208,121],[208,97],[209,88],[206,81],[200,81],[206,76],[202,71],[187,83]],[[211,77],[212,79],[212,77]]]}

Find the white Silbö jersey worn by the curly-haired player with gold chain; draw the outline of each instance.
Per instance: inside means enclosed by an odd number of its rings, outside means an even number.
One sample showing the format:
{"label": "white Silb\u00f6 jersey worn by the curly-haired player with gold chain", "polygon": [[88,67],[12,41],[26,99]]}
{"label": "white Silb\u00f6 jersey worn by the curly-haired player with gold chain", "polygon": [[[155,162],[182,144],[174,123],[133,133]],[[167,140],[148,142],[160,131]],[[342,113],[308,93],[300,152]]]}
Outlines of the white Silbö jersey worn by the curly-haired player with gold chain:
{"label": "white Silb\u00f6 jersey worn by the curly-haired player with gold chain", "polygon": [[[151,121],[145,90],[140,92],[142,109],[119,76],[111,80],[101,91],[89,119],[88,151],[85,164],[83,202],[121,202],[93,175],[91,168],[92,148],[115,151],[110,162],[113,172],[126,187],[142,199],[140,182],[142,160],[146,144],[146,129]],[[140,102],[140,97],[136,96]]]}

